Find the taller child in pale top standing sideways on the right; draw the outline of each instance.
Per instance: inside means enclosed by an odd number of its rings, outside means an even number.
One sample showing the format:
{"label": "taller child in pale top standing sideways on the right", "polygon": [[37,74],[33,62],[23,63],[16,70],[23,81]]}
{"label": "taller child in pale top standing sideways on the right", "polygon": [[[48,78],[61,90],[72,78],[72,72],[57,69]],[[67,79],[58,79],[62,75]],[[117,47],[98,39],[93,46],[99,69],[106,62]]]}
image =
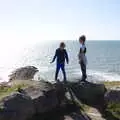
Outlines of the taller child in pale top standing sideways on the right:
{"label": "taller child in pale top standing sideways on the right", "polygon": [[81,66],[81,72],[82,72],[82,79],[81,81],[86,81],[87,74],[86,74],[86,64],[87,64],[87,59],[86,59],[86,46],[85,46],[85,41],[86,37],[84,35],[80,36],[79,42],[80,42],[80,51],[78,54],[79,58],[79,64]]}

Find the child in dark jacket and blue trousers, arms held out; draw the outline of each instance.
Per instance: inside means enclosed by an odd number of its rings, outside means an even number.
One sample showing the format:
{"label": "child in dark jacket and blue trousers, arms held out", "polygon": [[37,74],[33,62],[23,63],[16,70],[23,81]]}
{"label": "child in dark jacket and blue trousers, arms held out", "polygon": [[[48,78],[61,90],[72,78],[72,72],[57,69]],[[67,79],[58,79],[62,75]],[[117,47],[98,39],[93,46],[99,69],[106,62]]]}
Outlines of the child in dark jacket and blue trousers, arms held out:
{"label": "child in dark jacket and blue trousers, arms held out", "polygon": [[63,76],[64,76],[64,82],[66,82],[66,72],[65,72],[65,59],[67,64],[69,63],[69,58],[67,51],[65,49],[65,43],[61,42],[60,47],[56,49],[55,56],[53,57],[53,60],[51,63],[55,61],[57,58],[57,64],[56,64],[56,73],[55,73],[55,80],[58,81],[58,73],[59,70],[62,70]]}

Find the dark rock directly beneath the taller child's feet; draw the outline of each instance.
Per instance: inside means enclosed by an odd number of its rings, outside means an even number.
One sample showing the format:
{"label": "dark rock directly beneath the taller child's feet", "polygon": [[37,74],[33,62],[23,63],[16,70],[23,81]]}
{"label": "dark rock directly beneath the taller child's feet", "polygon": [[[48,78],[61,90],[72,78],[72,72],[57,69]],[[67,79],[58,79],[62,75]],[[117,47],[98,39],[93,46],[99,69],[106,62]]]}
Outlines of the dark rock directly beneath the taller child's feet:
{"label": "dark rock directly beneath the taller child's feet", "polygon": [[69,86],[77,99],[85,104],[93,105],[104,101],[106,88],[103,84],[86,82],[70,83]]}

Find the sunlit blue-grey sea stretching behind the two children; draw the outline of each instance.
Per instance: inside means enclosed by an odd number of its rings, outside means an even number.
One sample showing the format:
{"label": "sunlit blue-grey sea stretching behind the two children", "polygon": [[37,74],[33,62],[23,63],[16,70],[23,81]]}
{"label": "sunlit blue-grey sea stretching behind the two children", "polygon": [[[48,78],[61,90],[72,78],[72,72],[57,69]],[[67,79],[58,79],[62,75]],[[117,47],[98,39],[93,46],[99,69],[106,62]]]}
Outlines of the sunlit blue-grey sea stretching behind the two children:
{"label": "sunlit blue-grey sea stretching behind the two children", "polygon": [[[8,81],[8,75],[16,68],[35,66],[39,72],[34,79],[54,80],[56,62],[50,64],[55,50],[61,41],[42,41],[33,44],[14,44],[0,48],[0,82]],[[78,62],[80,44],[77,40],[64,41],[69,55],[66,64],[68,80],[79,80],[81,69]],[[120,81],[120,41],[88,40],[87,47],[87,75],[88,81]],[[62,80],[62,73],[59,73]]]}

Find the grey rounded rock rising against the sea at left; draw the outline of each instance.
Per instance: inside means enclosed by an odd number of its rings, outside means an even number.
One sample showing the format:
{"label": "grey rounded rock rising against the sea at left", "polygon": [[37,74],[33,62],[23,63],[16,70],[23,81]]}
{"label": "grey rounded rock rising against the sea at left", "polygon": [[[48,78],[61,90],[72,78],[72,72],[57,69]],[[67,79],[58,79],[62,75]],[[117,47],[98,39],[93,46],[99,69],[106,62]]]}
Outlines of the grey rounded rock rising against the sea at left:
{"label": "grey rounded rock rising against the sea at left", "polygon": [[9,80],[28,80],[33,79],[38,69],[34,66],[21,67],[9,75]]}

